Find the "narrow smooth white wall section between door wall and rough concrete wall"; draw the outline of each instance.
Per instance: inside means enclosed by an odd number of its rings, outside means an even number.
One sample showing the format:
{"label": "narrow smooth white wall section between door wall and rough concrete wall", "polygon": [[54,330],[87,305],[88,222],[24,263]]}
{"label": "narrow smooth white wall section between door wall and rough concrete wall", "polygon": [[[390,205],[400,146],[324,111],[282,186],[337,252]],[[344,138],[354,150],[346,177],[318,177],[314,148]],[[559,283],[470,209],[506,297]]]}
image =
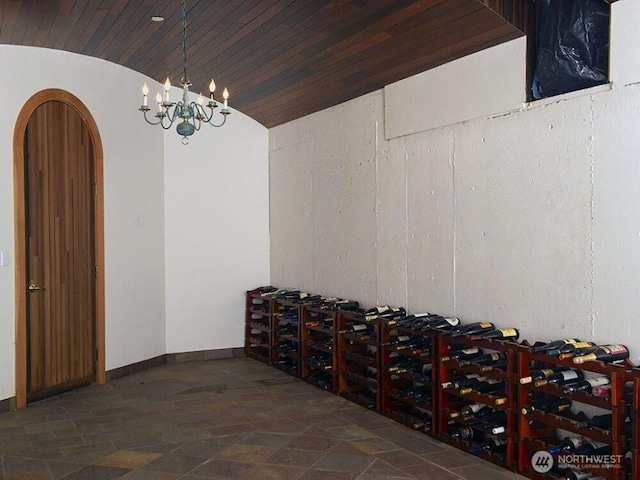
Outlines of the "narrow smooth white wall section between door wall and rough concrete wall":
{"label": "narrow smooth white wall section between door wall and rough concrete wall", "polygon": [[268,131],[233,111],[165,137],[167,352],[244,344],[244,292],[269,283]]}

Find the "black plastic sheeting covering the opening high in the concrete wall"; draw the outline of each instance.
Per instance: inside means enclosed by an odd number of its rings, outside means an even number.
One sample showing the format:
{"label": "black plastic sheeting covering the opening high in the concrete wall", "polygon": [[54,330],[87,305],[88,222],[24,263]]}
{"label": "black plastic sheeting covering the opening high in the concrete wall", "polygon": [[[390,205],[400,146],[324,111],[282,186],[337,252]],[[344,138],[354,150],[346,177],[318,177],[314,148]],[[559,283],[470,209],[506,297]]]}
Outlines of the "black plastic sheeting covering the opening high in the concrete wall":
{"label": "black plastic sheeting covering the opening high in the concrete wall", "polygon": [[608,81],[609,14],[604,0],[551,0],[543,11],[533,97]]}

